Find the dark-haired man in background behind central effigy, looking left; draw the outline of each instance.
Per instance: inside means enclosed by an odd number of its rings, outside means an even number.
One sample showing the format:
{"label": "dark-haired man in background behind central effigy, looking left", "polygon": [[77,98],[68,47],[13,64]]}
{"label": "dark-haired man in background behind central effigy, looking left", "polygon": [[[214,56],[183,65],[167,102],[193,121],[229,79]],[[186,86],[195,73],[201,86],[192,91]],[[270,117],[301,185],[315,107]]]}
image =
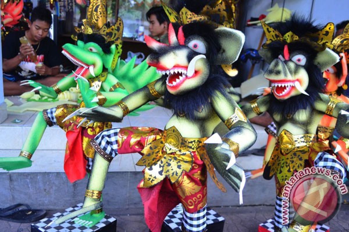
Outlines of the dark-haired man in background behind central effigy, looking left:
{"label": "dark-haired man in background behind central effigy, looking left", "polygon": [[149,32],[151,37],[162,42],[169,43],[167,31],[170,20],[162,6],[152,7],[148,10],[147,19],[149,21]]}

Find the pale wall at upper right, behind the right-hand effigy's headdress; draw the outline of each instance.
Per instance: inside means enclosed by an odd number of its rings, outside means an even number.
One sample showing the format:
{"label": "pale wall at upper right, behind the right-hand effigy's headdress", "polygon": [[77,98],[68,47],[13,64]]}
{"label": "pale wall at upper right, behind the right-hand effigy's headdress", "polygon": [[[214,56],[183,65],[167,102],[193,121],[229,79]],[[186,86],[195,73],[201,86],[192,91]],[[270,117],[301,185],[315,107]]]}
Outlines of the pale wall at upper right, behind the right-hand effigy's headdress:
{"label": "pale wall at upper right, behind the right-hand effigy's headdress", "polygon": [[[274,6],[275,3],[282,7],[292,10],[293,12],[310,17],[316,24],[326,24],[333,22],[340,23],[343,20],[349,20],[349,0],[245,0],[242,9],[242,25],[246,24],[250,17],[259,17],[261,14],[267,15],[266,9]],[[257,49],[263,29],[261,26],[241,27],[246,35],[244,49]],[[255,65],[253,75],[257,75],[260,69],[267,65],[262,63]],[[240,73],[243,78],[247,78],[251,63],[247,61],[243,65]]]}

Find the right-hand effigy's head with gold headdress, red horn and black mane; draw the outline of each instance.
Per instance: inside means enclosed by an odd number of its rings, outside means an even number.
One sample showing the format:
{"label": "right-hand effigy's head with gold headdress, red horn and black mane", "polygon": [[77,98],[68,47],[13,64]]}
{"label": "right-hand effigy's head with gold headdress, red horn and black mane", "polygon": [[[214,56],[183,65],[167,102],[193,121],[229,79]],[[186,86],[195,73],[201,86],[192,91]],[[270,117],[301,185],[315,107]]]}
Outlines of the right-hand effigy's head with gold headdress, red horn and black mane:
{"label": "right-hand effigy's head with gold headdress, red horn and black mane", "polygon": [[272,86],[271,110],[293,114],[305,109],[324,90],[322,72],[339,60],[330,49],[334,24],[321,28],[293,15],[274,28],[262,25],[267,41],[259,54],[270,63],[265,78]]}

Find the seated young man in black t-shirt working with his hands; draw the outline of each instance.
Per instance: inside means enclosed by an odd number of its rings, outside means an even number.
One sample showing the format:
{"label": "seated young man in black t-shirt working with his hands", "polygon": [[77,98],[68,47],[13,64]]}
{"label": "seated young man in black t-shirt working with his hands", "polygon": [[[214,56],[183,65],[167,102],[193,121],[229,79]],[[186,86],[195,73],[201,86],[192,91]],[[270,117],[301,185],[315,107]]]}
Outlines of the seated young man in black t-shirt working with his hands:
{"label": "seated young man in black t-shirt working with his hands", "polygon": [[[20,95],[33,89],[20,86],[22,80],[35,80],[46,86],[59,81],[59,77],[52,77],[60,72],[61,60],[57,45],[47,37],[51,24],[51,12],[36,7],[32,11],[28,30],[15,31],[5,37],[2,44],[5,96]],[[27,37],[28,44],[21,44],[20,38],[23,36]],[[37,62],[30,58],[34,54],[37,55]]]}

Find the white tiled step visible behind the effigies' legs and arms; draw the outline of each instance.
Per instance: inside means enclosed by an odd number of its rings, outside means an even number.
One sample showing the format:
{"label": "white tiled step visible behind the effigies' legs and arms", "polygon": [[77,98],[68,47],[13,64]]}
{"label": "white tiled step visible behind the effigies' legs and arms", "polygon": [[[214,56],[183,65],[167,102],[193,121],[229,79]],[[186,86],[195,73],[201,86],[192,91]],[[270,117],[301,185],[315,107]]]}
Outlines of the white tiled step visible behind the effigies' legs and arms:
{"label": "white tiled step visible behind the effigies' legs and arms", "polygon": [[[15,97],[10,100],[15,104],[20,104]],[[36,115],[37,113],[33,111],[8,112],[8,118],[0,124],[0,157],[15,157],[19,154]],[[170,110],[156,106],[149,111],[140,112],[139,116],[126,116],[122,122],[113,122],[112,125],[120,128],[128,126],[164,128],[171,115]],[[13,123],[15,119],[20,119],[22,122]],[[263,127],[254,126],[258,140],[252,148],[259,148],[266,144],[267,136]],[[16,170],[16,172],[63,172],[65,146],[64,131],[58,126],[47,127],[32,158],[32,167]],[[140,158],[138,153],[118,155],[111,163],[110,171],[142,171],[143,167],[135,165]],[[245,169],[256,169],[261,167],[262,160],[263,157],[248,155],[239,157],[237,162]]]}

